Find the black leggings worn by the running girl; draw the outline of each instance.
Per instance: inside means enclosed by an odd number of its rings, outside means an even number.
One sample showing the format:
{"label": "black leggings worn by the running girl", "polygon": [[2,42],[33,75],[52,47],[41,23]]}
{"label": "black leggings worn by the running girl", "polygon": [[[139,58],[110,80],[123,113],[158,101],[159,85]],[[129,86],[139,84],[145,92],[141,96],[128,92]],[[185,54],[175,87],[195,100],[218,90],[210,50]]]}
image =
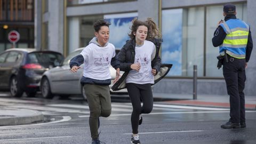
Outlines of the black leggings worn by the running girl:
{"label": "black leggings worn by the running girl", "polygon": [[[140,114],[149,114],[153,109],[151,84],[127,83],[127,91],[132,102],[132,133],[138,133]],[[141,107],[141,101],[143,103]]]}

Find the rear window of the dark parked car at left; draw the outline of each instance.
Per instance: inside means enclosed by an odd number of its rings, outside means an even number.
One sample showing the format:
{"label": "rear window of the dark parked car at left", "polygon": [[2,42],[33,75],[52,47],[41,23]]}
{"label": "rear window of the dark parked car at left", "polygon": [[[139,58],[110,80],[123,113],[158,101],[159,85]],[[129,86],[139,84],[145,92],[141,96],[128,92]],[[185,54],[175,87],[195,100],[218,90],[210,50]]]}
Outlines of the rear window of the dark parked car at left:
{"label": "rear window of the dark parked car at left", "polygon": [[32,52],[28,54],[27,63],[36,63],[44,68],[59,66],[63,57],[55,52]]}

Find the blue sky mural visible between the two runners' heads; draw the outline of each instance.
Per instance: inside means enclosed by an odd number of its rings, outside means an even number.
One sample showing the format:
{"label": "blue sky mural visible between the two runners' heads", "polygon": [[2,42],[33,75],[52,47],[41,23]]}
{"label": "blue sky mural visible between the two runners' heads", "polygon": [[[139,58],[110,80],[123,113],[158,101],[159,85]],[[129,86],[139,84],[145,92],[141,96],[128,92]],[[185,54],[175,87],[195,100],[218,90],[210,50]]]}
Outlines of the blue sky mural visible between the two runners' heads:
{"label": "blue sky mural visible between the two runners' heads", "polygon": [[110,37],[109,42],[114,44],[116,49],[121,49],[125,42],[130,39],[131,21],[137,17],[137,13],[124,13],[124,14],[109,14],[104,15],[104,18],[111,22],[109,26]]}

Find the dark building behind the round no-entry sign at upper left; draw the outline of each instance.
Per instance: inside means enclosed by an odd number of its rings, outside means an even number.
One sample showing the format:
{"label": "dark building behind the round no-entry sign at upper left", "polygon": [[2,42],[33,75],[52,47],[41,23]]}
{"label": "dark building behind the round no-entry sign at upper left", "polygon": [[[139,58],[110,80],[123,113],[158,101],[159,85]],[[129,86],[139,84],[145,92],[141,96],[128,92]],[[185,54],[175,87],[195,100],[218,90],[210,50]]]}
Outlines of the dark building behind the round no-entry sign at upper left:
{"label": "dark building behind the round no-entry sign at upper left", "polygon": [[[20,36],[15,45],[8,39],[12,30]],[[12,47],[34,47],[34,0],[0,0],[0,52]]]}

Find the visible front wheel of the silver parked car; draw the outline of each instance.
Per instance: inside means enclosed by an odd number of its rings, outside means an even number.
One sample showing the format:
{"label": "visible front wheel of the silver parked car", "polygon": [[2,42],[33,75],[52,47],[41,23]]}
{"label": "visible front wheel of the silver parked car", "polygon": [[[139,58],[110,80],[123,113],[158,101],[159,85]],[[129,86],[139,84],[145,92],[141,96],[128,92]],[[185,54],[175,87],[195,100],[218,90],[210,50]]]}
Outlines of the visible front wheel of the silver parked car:
{"label": "visible front wheel of the silver parked car", "polygon": [[51,92],[50,83],[46,77],[42,79],[41,92],[42,92],[43,98],[45,99],[52,99],[54,97],[54,95]]}

